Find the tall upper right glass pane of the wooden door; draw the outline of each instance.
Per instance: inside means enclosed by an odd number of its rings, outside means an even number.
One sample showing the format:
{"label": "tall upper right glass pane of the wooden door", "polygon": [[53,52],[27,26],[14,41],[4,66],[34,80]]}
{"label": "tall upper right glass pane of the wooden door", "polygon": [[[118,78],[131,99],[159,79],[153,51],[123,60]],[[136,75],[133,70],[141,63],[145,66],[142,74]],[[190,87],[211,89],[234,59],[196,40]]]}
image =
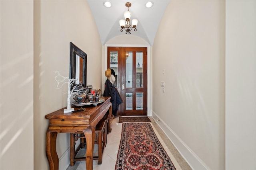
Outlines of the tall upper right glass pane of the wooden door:
{"label": "tall upper right glass pane of the wooden door", "polygon": [[136,88],[143,87],[143,52],[136,52]]}

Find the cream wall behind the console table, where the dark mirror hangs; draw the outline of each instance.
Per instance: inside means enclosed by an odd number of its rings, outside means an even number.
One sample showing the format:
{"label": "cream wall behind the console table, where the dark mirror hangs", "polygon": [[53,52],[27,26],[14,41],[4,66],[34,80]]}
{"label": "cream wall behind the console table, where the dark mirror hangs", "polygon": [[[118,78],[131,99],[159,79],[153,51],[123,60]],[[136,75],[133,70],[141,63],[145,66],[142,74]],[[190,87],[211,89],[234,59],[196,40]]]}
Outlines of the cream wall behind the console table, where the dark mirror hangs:
{"label": "cream wall behind the console table, where the dark mirror hangs", "polygon": [[[66,107],[67,87],[56,89],[55,72],[69,77],[70,42],[87,54],[87,84],[101,86],[101,42],[86,1],[34,1],[34,169],[49,168],[45,140],[46,114]],[[70,164],[69,134],[58,134],[59,169]]]}

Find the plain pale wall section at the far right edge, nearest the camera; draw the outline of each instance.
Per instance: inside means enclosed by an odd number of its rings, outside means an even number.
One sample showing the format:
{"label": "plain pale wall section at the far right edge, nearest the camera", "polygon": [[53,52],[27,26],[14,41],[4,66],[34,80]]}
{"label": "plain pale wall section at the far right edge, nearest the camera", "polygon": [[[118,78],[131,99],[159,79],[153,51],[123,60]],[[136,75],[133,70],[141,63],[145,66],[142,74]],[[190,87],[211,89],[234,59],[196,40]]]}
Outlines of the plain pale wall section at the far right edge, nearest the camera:
{"label": "plain pale wall section at the far right edge, nearest the camera", "polygon": [[256,169],[256,1],[226,1],[226,170]]}

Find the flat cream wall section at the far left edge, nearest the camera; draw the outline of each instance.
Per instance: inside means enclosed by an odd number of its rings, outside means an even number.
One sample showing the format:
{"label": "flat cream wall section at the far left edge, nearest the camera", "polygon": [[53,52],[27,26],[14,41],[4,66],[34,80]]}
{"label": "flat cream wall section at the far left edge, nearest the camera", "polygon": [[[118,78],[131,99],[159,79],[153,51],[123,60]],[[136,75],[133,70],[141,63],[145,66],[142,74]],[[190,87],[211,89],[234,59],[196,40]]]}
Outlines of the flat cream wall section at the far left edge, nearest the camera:
{"label": "flat cream wall section at the far left edge, nearest the camera", "polygon": [[33,1],[0,1],[0,169],[33,170]]}

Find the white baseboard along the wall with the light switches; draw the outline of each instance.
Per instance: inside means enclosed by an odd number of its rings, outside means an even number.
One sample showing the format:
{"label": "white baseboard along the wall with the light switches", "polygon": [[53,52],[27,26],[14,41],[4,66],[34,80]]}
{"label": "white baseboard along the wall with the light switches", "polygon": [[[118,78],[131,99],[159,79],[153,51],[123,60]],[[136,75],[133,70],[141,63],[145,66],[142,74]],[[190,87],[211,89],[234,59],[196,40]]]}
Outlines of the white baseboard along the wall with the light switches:
{"label": "white baseboard along the wall with the light switches", "polygon": [[198,158],[198,156],[192,152],[192,150],[166,125],[166,123],[160,119],[160,117],[152,111],[152,118],[156,121],[158,126],[164,131],[167,137],[172,141],[180,155],[186,160],[193,170],[209,170],[204,162]]}

